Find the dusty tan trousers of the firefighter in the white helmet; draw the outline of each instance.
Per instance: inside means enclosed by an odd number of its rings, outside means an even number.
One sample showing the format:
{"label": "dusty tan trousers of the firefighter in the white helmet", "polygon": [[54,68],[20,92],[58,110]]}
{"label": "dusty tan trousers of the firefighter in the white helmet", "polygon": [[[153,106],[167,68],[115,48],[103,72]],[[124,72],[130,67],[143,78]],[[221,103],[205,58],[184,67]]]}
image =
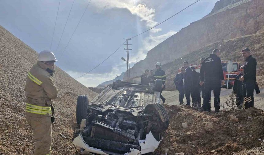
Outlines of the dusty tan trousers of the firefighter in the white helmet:
{"label": "dusty tan trousers of the firefighter in the white helmet", "polygon": [[33,129],[35,140],[34,155],[51,155],[51,117],[49,114],[38,117],[34,117],[34,115],[40,114],[26,112],[26,119]]}

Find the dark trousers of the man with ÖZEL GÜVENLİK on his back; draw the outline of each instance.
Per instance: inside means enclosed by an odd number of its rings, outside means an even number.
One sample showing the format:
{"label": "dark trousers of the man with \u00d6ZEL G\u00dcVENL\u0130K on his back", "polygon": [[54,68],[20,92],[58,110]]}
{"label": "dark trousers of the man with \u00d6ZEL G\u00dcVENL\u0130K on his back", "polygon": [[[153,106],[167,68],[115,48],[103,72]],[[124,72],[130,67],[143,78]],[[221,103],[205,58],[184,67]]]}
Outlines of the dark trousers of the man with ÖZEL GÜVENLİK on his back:
{"label": "dark trousers of the man with \u00d6ZEL G\u00dcVENL\u0130K on his back", "polygon": [[211,97],[211,92],[213,90],[215,99],[214,99],[214,106],[215,109],[220,109],[220,93],[221,93],[221,81],[219,79],[206,79],[204,81],[204,101],[203,101],[203,109],[204,111],[209,111],[209,99]]}

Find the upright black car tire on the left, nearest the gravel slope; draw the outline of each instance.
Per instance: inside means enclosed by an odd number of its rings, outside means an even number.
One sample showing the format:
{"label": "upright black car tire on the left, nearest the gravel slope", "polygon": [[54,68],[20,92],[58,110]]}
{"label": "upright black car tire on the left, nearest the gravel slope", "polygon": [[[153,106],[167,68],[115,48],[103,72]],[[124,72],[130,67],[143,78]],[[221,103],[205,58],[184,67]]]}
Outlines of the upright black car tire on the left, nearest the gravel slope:
{"label": "upright black car tire on the left, nearest the gravel slope", "polygon": [[76,105],[76,122],[80,124],[83,118],[87,118],[87,106],[88,106],[88,96],[87,95],[79,95],[77,98]]}

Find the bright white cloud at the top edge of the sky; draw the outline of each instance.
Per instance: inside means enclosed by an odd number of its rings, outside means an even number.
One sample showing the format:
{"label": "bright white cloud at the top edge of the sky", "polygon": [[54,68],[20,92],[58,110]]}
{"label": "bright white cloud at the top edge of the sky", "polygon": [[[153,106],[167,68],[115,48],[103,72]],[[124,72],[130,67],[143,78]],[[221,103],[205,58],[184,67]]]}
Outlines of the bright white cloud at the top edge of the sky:
{"label": "bright white cloud at the top edge of the sky", "polygon": [[[100,10],[126,8],[131,14],[137,15],[141,21],[146,22],[148,28],[157,25],[157,22],[154,20],[155,9],[147,7],[144,3],[138,3],[138,0],[96,0],[93,5]],[[156,33],[161,31],[161,28],[153,28],[150,31]]]}

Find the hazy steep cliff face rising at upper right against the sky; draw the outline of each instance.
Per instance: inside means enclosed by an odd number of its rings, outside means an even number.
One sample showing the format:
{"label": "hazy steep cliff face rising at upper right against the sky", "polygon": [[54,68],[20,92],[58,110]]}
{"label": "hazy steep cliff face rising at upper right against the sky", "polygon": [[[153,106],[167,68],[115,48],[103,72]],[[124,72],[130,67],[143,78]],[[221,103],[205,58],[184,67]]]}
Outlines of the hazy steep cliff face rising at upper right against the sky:
{"label": "hazy steep cliff face rising at upper right against the sky", "polygon": [[210,14],[151,49],[130,69],[131,78],[152,69],[156,62],[165,64],[214,42],[263,32],[263,13],[263,0],[220,0]]}

